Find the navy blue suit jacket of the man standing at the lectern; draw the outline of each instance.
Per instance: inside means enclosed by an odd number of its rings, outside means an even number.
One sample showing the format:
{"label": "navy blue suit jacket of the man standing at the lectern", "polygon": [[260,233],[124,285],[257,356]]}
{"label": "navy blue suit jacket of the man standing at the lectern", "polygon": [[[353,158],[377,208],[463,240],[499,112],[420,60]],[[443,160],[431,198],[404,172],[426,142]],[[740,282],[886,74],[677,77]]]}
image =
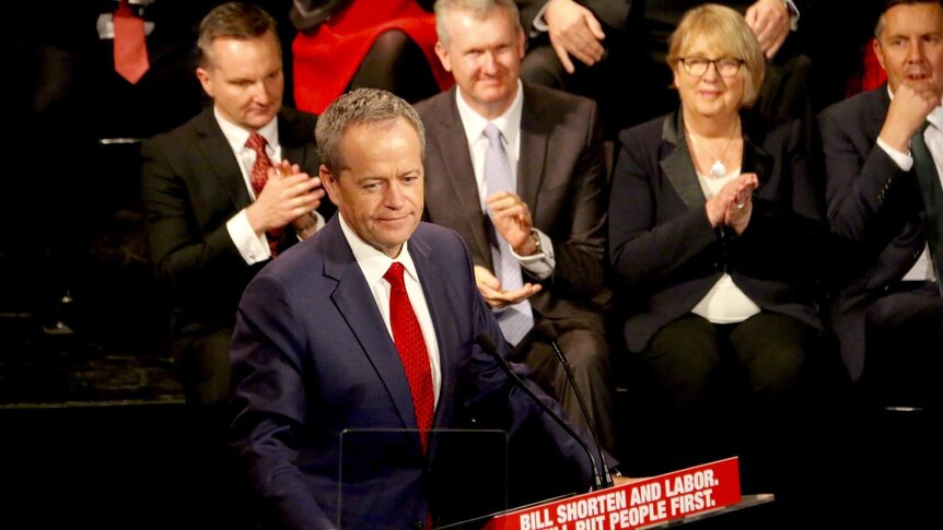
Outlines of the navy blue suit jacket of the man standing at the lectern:
{"label": "navy blue suit jacket of the man standing at the lectern", "polygon": [[[509,464],[517,461],[514,446],[520,440],[517,456],[539,452],[546,458],[544,471],[563,479],[569,491],[587,490],[585,454],[476,344],[478,333],[501,337],[501,330],[478,294],[461,238],[421,223],[408,251],[439,343],[442,387],[433,428],[472,425],[474,413],[475,426],[509,434]],[[507,345],[498,342],[507,355]],[[339,471],[346,456],[341,434],[415,429],[416,414],[399,356],[338,220],[249,283],[240,305],[232,363],[232,439],[253,487],[278,520],[275,527],[334,528],[341,511],[341,528],[416,528],[426,519],[427,495],[452,494],[424,483],[429,476],[423,470],[443,464],[434,433],[428,462],[412,432],[388,447],[377,436],[362,454],[372,468],[347,459],[348,471]],[[339,472],[345,473],[342,486]],[[542,479],[528,473],[521,480]],[[462,502],[474,504],[475,498]],[[431,509],[433,516],[442,515],[438,505]]]}

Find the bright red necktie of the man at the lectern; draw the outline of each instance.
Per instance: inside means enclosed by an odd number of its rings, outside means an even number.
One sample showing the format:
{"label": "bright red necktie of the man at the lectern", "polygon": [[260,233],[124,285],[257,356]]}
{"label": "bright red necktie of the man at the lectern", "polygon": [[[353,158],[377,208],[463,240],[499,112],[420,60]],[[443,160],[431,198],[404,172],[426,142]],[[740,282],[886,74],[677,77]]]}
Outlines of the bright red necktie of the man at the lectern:
{"label": "bright red necktie of the man at the lectern", "polygon": [[432,411],[434,396],[432,393],[432,368],[429,365],[429,353],[426,340],[419,328],[419,320],[412,313],[406,284],[403,282],[403,263],[394,262],[383,279],[389,282],[389,323],[393,328],[393,342],[403,361],[409,391],[412,393],[412,408],[416,410],[416,424],[419,426],[419,437],[422,451],[426,451],[426,440],[432,428]]}

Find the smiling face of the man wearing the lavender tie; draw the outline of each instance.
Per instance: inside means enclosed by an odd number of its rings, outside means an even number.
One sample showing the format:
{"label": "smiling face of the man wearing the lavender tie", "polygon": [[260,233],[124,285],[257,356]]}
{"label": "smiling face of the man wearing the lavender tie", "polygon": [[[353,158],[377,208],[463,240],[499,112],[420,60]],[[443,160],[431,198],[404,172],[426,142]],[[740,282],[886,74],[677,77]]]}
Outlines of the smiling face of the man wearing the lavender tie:
{"label": "smiling face of the man wearing the lavender tie", "polygon": [[445,24],[449,46],[435,45],[442,66],[455,76],[472,108],[486,118],[500,116],[517,93],[524,32],[503,8],[492,9],[485,19],[453,9]]}

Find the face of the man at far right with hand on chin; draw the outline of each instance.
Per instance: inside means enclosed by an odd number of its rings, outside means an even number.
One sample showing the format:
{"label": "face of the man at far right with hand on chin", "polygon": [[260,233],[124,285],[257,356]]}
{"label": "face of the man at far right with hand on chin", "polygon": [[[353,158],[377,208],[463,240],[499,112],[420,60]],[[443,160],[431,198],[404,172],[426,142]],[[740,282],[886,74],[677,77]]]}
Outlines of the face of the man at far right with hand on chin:
{"label": "face of the man at far right with hand on chin", "polygon": [[943,9],[935,2],[890,8],[874,51],[892,92],[905,83],[943,92]]}

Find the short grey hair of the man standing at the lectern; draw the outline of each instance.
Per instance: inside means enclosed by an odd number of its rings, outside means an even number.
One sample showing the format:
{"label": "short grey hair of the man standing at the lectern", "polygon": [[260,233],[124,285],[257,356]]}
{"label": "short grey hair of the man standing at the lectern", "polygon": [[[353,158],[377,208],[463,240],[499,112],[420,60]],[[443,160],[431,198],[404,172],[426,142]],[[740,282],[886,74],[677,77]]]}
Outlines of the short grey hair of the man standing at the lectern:
{"label": "short grey hair of the man standing at the lectern", "polygon": [[403,119],[419,136],[419,151],[426,161],[426,128],[412,105],[403,98],[380,89],[357,89],[335,99],[317,118],[314,130],[321,163],[337,175],[347,168],[340,140],[354,126],[394,122]]}

